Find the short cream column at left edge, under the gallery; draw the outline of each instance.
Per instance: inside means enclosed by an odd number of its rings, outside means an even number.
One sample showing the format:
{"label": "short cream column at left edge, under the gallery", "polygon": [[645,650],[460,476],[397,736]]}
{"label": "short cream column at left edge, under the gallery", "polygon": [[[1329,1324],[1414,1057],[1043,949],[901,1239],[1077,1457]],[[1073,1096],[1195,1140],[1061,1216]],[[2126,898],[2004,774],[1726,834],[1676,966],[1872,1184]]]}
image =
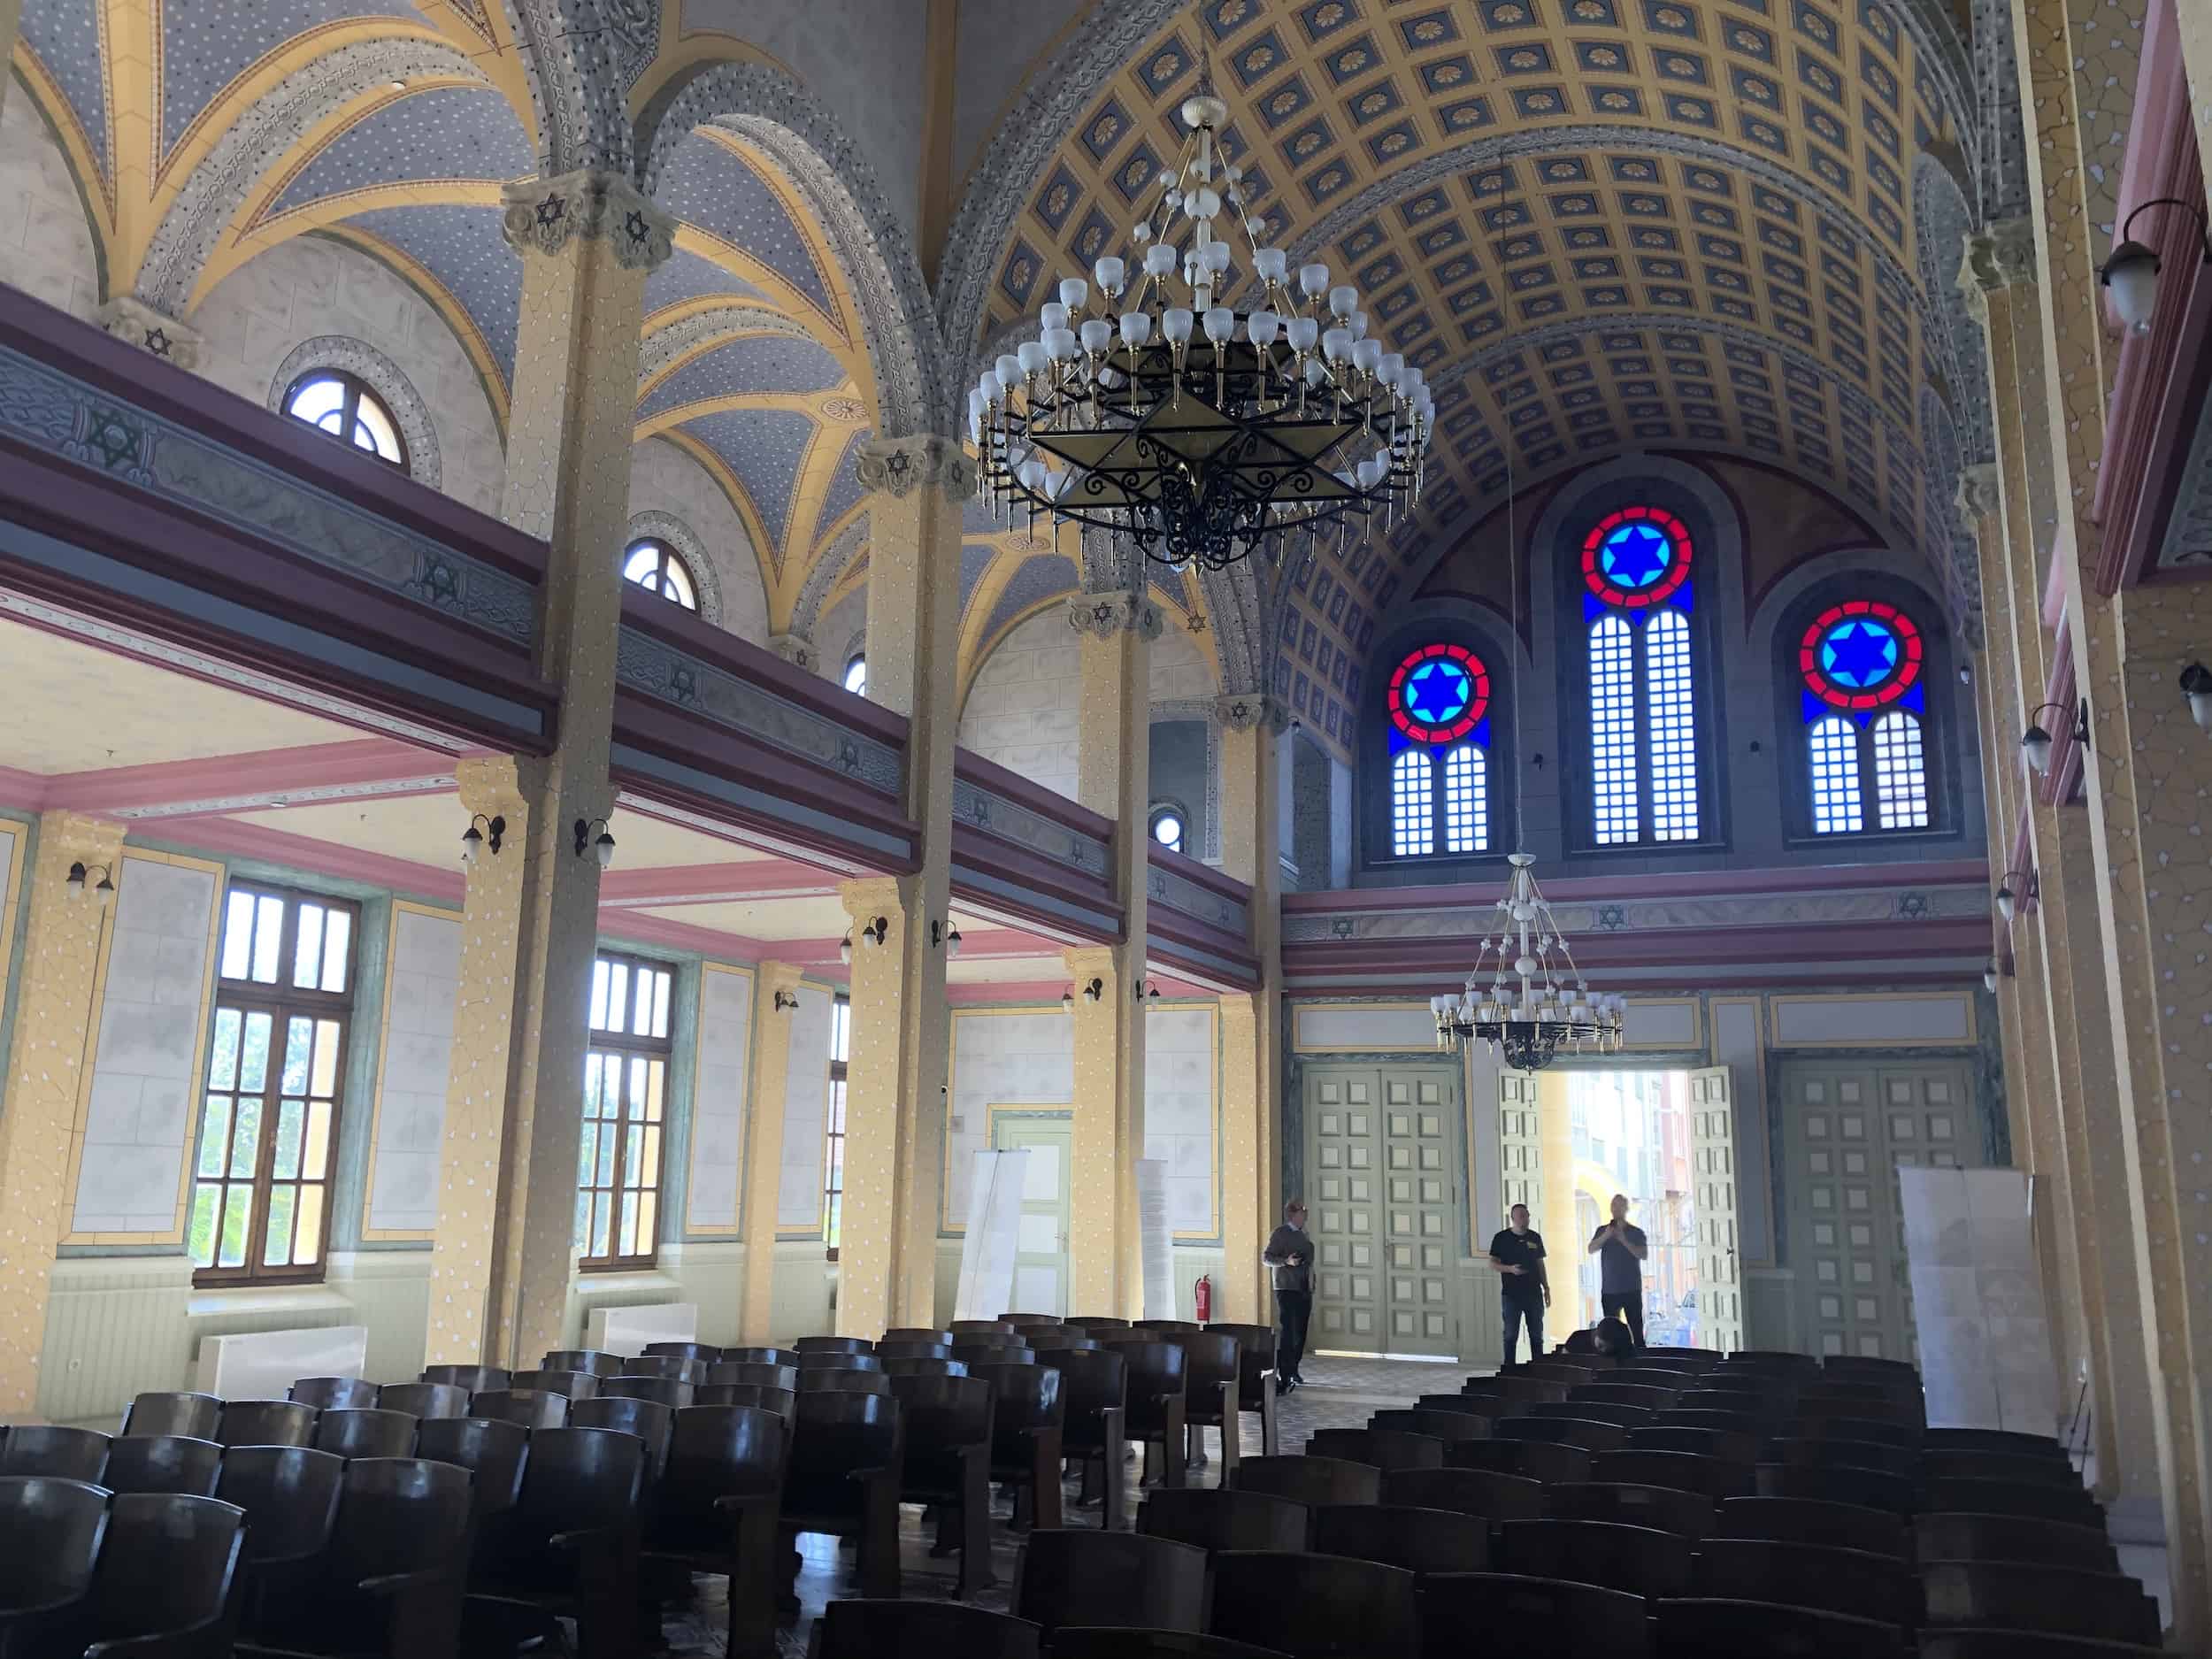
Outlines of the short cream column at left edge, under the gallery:
{"label": "short cream column at left edge, under the gallery", "polygon": [[49,812],[24,865],[15,1040],[0,1102],[0,1418],[38,1409],[53,1250],[69,1232],[69,1139],[97,1035],[93,984],[111,911],[91,891],[71,898],[69,867],[115,872],[122,849],[119,823]]}

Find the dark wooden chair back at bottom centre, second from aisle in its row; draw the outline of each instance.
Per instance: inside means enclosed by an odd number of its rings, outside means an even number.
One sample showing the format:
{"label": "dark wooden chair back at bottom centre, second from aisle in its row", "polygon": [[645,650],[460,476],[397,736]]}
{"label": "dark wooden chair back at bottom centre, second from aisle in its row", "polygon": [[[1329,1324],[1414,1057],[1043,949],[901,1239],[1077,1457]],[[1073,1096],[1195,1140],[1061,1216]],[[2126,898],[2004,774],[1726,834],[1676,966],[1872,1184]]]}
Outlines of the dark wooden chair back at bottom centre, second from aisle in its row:
{"label": "dark wooden chair back at bottom centre, second from aisle in its row", "polygon": [[1420,1644],[1413,1575],[1347,1555],[1223,1551],[1212,1628],[1294,1659],[1409,1655]]}

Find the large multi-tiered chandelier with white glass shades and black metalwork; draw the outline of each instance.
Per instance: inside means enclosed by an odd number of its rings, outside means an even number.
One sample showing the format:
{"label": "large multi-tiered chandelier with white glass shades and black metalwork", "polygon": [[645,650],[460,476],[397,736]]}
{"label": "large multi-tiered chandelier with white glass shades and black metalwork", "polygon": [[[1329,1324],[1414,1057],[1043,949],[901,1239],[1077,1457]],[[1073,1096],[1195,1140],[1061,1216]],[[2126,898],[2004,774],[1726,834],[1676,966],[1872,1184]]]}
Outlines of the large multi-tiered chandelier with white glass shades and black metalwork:
{"label": "large multi-tiered chandelier with white glass shades and black metalwork", "polygon": [[[1396,522],[1420,498],[1425,376],[1367,336],[1354,285],[1261,246],[1243,168],[1221,155],[1228,113],[1201,60],[1181,157],[1130,230],[1137,268],[1106,257],[1062,281],[1040,336],[969,392],[982,487],[1009,524],[1106,529],[1219,571],[1285,533]],[[1223,215],[1252,272],[1234,307],[1219,303],[1239,274]]]}

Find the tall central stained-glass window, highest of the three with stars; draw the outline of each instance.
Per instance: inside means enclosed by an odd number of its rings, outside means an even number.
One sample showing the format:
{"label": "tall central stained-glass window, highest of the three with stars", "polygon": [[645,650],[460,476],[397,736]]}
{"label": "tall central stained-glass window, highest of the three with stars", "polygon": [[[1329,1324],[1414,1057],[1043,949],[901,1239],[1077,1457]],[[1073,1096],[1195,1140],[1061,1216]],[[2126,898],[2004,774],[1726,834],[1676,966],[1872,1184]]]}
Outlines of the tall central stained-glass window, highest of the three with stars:
{"label": "tall central stained-glass window, highest of the three with stars", "polygon": [[1661,507],[1606,513],[1582,542],[1590,836],[1697,841],[1703,825],[1690,531]]}

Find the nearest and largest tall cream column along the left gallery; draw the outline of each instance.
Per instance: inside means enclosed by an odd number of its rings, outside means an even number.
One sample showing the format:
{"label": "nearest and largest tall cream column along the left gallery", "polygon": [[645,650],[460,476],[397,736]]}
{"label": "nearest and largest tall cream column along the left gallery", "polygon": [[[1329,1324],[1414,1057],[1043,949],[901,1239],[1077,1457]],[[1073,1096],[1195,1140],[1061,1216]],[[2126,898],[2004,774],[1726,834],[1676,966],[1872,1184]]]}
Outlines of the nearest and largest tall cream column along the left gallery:
{"label": "nearest and largest tall cream column along the left gallery", "polygon": [[[500,872],[487,869],[482,883],[471,872],[473,914],[465,914],[465,929],[513,964],[482,982],[504,998],[509,1029],[493,1037],[498,1020],[487,1015],[480,1031],[456,1035],[429,1356],[531,1365],[560,1347],[573,1274],[599,918],[599,865],[575,852],[575,825],[615,805],[617,555],[630,507],[637,338],[646,274],[668,259],[675,223],[619,175],[568,173],[507,186],[504,230],[522,254],[522,327],[500,515],[549,544],[538,672],[562,690],[560,741],[478,781],[484,799],[518,807],[511,823],[520,818],[495,858],[489,847],[478,856]],[[482,1093],[500,1073],[498,1179],[471,1197],[469,1183],[493,1168]],[[467,1084],[473,1099],[462,1097]]]}

